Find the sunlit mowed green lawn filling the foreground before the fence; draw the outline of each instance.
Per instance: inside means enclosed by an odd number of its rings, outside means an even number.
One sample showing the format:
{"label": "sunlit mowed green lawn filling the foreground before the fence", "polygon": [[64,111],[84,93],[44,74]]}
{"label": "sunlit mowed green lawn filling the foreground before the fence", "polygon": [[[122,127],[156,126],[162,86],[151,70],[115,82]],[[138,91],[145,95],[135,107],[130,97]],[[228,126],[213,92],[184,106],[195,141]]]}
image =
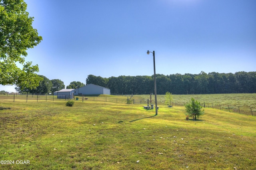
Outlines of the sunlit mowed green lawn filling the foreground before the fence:
{"label": "sunlit mowed green lawn filling the foreground before the fence", "polygon": [[[1,103],[0,169],[256,169],[256,117],[100,101]],[[29,164],[17,164],[17,160]],[[6,161],[7,162],[7,161]]]}

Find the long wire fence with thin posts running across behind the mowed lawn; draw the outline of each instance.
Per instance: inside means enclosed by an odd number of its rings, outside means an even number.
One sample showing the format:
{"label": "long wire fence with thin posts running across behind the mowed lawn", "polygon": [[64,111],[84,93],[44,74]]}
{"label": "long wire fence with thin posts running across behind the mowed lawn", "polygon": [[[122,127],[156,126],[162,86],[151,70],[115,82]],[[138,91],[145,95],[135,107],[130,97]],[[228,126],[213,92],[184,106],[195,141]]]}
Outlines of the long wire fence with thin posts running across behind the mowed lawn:
{"label": "long wire fence with thin posts running across behind the mowed lawn", "polygon": [[[0,94],[1,102],[50,102],[50,101],[66,101],[66,100],[80,100],[84,101],[101,101],[101,102],[112,102],[112,103],[129,103],[129,104],[149,104],[149,99],[120,99],[113,97],[98,97],[98,96],[88,96],[88,97],[76,97],[70,95],[22,95],[18,93],[4,93]],[[128,102],[129,101],[129,102]],[[154,104],[154,100],[152,100]],[[180,103],[178,101],[173,101],[170,105],[172,106],[184,106],[186,103]],[[164,106],[164,101],[158,101],[158,105]],[[167,106],[167,105],[166,105]],[[244,115],[256,115],[255,107],[246,106],[234,106],[234,105],[224,105],[216,103],[203,103],[201,104],[204,108],[219,109],[227,112],[240,113]]]}

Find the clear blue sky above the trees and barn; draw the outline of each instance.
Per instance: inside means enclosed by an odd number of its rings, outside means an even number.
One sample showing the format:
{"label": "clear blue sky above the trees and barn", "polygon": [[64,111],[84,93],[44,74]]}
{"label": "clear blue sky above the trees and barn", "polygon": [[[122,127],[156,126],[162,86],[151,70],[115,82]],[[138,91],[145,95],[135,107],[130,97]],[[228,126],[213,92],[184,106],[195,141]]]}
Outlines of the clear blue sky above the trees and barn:
{"label": "clear blue sky above the trees and barn", "polygon": [[25,2],[43,37],[26,61],[65,86],[90,74],[153,75],[147,50],[164,75],[256,71],[256,0]]}

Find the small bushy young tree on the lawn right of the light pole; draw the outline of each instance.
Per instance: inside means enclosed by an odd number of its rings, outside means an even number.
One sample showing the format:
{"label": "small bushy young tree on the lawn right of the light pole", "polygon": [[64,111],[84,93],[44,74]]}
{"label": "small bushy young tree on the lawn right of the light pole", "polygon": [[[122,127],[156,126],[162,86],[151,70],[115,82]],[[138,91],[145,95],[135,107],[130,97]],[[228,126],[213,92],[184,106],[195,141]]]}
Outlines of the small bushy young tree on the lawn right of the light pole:
{"label": "small bushy young tree on the lawn right of the light pole", "polygon": [[200,102],[195,101],[193,97],[189,103],[186,103],[185,107],[189,117],[192,117],[192,113],[195,113],[198,118],[204,114],[204,110],[202,110]]}

